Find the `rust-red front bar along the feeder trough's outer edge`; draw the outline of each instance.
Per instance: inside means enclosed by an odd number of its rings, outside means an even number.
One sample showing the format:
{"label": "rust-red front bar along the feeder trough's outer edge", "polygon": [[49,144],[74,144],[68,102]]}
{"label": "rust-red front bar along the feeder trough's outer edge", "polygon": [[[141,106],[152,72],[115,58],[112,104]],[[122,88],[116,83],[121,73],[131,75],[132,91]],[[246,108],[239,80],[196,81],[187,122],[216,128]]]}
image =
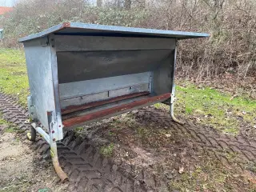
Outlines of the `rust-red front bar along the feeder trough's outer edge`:
{"label": "rust-red front bar along the feeder trough's outer edge", "polygon": [[78,116],[78,117],[75,117],[75,118],[66,119],[66,120],[63,121],[63,126],[65,126],[65,127],[74,126],[76,124],[81,124],[82,122],[87,122],[87,121],[93,120],[95,118],[101,118],[101,117],[104,117],[104,116],[109,116],[110,114],[118,113],[120,111],[132,110],[134,107],[144,106],[146,103],[162,102],[162,101],[164,101],[168,98],[170,98],[170,93],[162,94],[162,95],[158,95],[158,96],[154,96],[154,97],[150,97],[150,98],[144,98],[140,101],[131,102],[131,103],[128,103],[128,104],[125,104],[125,105],[115,106],[115,107],[112,107],[110,109],[99,110],[99,111],[91,113],[91,114],[86,114],[86,115],[83,115],[83,116]]}

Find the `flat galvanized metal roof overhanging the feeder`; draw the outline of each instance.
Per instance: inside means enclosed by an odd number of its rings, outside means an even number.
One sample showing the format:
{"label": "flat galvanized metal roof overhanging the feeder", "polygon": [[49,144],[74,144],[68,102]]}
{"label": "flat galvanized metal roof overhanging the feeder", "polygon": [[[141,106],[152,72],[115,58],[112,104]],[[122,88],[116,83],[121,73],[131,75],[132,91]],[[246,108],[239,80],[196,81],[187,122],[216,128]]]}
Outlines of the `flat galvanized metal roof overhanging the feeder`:
{"label": "flat galvanized metal roof overhanging the feeder", "polygon": [[48,34],[70,34],[70,35],[91,35],[91,36],[112,36],[112,37],[147,37],[147,38],[206,38],[209,34],[183,32],[175,30],[153,30],[144,28],[124,26],[104,26],[82,22],[63,22],[57,26],[50,27],[37,34],[31,34],[20,38],[18,42],[26,42],[34,38],[41,38]]}

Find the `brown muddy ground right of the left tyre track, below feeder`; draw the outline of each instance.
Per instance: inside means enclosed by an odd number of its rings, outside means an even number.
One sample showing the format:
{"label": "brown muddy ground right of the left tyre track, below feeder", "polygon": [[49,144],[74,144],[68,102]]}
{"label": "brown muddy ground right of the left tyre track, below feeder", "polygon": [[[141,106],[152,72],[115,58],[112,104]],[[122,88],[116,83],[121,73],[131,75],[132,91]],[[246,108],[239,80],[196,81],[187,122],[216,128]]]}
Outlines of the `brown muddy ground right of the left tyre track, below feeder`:
{"label": "brown muddy ground right of the left tyre track, below feeder", "polygon": [[[150,108],[84,126],[78,132],[124,170],[133,171],[135,177],[143,174],[148,191],[255,191],[255,159],[223,147],[234,144],[233,136],[203,127],[196,130],[188,123],[179,126],[165,112]],[[210,136],[215,143],[207,143]],[[234,145],[242,149],[240,142]]]}

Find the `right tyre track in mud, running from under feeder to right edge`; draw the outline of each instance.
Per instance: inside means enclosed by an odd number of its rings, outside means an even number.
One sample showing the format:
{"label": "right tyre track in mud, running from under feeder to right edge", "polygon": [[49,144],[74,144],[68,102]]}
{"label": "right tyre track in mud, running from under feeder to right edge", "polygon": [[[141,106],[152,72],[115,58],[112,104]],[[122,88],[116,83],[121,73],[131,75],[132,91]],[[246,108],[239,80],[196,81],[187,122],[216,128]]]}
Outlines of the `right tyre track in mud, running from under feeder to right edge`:
{"label": "right tyre track in mud, running from under feeder to right edge", "polygon": [[204,150],[206,154],[213,155],[219,160],[229,162],[226,153],[238,154],[240,166],[247,162],[256,163],[256,141],[248,139],[242,134],[232,136],[222,134],[221,131],[210,127],[195,126],[192,122],[186,121],[185,126],[172,122],[168,113],[148,107],[138,110],[135,118],[142,123],[155,123],[166,126],[173,130],[174,134],[188,135],[194,142],[194,147]]}

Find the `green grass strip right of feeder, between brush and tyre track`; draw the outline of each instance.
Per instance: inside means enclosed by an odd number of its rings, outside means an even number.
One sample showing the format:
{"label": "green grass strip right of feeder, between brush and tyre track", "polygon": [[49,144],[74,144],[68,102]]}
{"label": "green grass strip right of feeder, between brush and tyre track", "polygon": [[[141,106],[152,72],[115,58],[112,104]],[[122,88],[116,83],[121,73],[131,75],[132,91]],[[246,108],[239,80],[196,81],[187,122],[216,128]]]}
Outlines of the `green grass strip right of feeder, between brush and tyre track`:
{"label": "green grass strip right of feeder, between brush and tyre track", "polygon": [[189,82],[177,86],[178,113],[192,115],[204,125],[230,134],[238,134],[242,122],[256,125],[256,101],[246,97],[232,98],[210,87],[196,87]]}

